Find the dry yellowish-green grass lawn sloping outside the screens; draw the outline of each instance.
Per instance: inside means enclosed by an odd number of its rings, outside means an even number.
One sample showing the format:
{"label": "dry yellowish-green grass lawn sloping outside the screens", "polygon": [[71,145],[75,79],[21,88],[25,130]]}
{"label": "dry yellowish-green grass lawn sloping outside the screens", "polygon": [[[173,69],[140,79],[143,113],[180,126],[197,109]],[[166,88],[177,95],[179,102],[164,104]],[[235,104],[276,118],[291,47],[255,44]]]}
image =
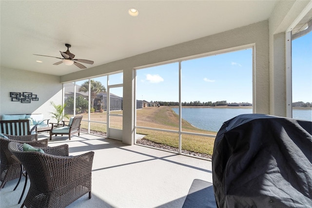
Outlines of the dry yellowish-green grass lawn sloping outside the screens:
{"label": "dry yellowish-green grass lawn sloping outside the screens", "polygon": [[[171,109],[170,106],[160,107],[145,107],[137,110],[137,126],[152,127],[159,129],[178,130],[179,129],[179,118],[178,115]],[[122,114],[122,111],[114,111],[114,113]],[[83,114],[84,118],[88,118],[87,114]],[[121,128],[122,124],[118,126],[118,117],[111,117],[114,128]],[[119,117],[120,119],[120,117]],[[106,112],[103,113],[92,113],[92,121],[106,122]],[[119,122],[120,123],[120,122]],[[81,122],[82,128],[88,128],[88,122]],[[106,132],[106,124],[91,123],[90,130]],[[212,134],[216,132],[206,131],[199,129],[182,119],[182,131]],[[157,144],[163,144],[178,148],[178,133],[140,129],[137,128],[137,134],[146,135],[144,139],[150,140]],[[188,134],[182,134],[182,149],[191,152],[198,152],[203,154],[212,155],[214,149],[215,138],[194,136]]]}

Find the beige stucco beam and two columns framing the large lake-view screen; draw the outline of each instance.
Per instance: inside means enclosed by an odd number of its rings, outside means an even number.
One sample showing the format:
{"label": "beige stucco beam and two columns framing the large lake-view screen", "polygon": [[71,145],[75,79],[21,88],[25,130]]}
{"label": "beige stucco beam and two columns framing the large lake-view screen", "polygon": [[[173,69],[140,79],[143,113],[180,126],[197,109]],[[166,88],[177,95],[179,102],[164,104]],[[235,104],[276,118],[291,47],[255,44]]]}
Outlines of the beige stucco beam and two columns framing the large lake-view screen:
{"label": "beige stucco beam and two columns framing the large lake-view screen", "polygon": [[[61,76],[61,82],[81,80],[118,70],[124,71],[123,143],[134,140],[134,73],[133,68],[183,59],[200,54],[225,52],[227,49],[250,45],[255,47],[254,112],[268,114],[269,109],[269,23],[261,21],[212,36],[183,42],[166,48],[110,62],[86,70]],[[131,137],[130,137],[131,136]]]}

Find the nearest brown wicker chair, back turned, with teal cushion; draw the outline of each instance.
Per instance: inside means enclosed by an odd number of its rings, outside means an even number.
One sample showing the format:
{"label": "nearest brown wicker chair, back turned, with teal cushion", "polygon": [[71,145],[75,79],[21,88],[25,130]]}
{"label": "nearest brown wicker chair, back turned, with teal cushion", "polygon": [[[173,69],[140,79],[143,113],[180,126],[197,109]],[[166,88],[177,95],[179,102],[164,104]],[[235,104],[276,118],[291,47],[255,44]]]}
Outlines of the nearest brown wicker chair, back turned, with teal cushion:
{"label": "nearest brown wicker chair, back turned, with teal cushion", "polygon": [[62,208],[89,192],[94,152],[68,156],[68,145],[24,152],[22,145],[9,143],[9,150],[25,167],[30,187],[21,207]]}

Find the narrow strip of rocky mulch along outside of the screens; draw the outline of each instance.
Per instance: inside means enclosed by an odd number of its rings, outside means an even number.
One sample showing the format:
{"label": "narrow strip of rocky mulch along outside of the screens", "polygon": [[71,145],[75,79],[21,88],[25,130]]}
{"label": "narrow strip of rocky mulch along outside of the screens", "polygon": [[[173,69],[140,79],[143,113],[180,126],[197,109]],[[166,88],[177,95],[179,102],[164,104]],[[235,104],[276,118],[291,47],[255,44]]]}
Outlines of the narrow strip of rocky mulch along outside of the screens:
{"label": "narrow strip of rocky mulch along outside of the screens", "polygon": [[[80,131],[81,132],[86,132],[86,133],[88,132],[88,130],[85,129],[85,128],[80,128]],[[100,131],[92,131],[92,130],[90,130],[90,133],[91,134],[95,134],[95,135],[99,135],[99,136],[103,136],[103,137],[107,136],[106,133],[103,133],[103,132],[100,132]],[[158,149],[165,149],[165,150],[173,151],[173,152],[178,152],[179,151],[178,148],[176,148],[176,147],[162,145],[162,144],[157,144],[157,143],[151,142],[151,141],[149,141],[147,139],[144,139],[144,138],[143,139],[137,139],[137,144],[145,145],[145,146],[151,146],[151,147],[155,147],[155,148],[158,148]],[[191,151],[187,151],[187,150],[183,150],[183,149],[182,149],[182,153],[183,154],[187,154],[187,155],[196,156],[196,157],[212,159],[212,156],[208,155],[208,154],[202,154],[202,153],[198,153],[198,152],[191,152]]]}

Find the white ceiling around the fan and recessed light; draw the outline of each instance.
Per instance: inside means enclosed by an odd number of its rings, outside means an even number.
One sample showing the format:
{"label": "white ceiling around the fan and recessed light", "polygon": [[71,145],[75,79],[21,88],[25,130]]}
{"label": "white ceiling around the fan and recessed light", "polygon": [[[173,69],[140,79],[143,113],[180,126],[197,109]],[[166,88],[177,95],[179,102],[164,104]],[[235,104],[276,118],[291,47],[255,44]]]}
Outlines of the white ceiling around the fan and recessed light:
{"label": "white ceiling around the fan and recessed light", "polygon": [[[277,0],[0,1],[0,64],[52,75],[79,69],[53,65],[72,47],[90,68],[267,20]],[[127,11],[135,7],[137,17]],[[42,63],[36,62],[37,60]]]}

